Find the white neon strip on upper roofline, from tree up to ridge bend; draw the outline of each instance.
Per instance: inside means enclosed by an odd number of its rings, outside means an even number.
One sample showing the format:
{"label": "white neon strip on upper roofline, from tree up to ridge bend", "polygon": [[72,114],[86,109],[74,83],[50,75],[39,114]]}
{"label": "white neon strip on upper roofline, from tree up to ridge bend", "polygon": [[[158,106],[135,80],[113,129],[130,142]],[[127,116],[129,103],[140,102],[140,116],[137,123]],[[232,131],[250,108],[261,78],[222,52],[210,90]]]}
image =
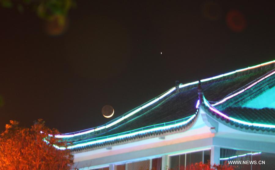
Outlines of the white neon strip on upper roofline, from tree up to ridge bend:
{"label": "white neon strip on upper roofline, from tree up to ridge bend", "polygon": [[85,132],[80,132],[80,133],[76,133],[76,134],[70,134],[70,135],[56,135],[55,137],[57,138],[69,138],[69,137],[74,137],[74,136],[79,136],[79,135],[84,135],[84,134],[87,134],[87,133],[91,133],[91,132],[95,132],[95,131],[99,131],[99,130],[102,130],[102,129],[105,129],[105,128],[109,128],[113,125],[116,125],[117,123],[123,121],[124,119],[126,118],[129,118],[130,116],[132,116],[133,114],[139,112],[141,109],[145,109],[146,107],[156,103],[157,101],[159,101],[160,99],[162,99],[163,97],[167,96],[168,94],[170,94],[171,92],[173,92],[174,90],[176,89],[176,87],[173,87],[172,89],[170,89],[169,91],[167,91],[166,93],[164,93],[163,95],[161,95],[160,97],[157,97],[156,99],[154,99],[153,101],[145,104],[144,106],[132,111],[131,113],[117,119],[116,121],[113,121],[112,123],[108,124],[108,125],[105,125],[105,126],[101,126],[101,127],[98,127],[98,128],[95,128],[95,129],[91,129],[91,130],[88,130],[88,131],[85,131]]}

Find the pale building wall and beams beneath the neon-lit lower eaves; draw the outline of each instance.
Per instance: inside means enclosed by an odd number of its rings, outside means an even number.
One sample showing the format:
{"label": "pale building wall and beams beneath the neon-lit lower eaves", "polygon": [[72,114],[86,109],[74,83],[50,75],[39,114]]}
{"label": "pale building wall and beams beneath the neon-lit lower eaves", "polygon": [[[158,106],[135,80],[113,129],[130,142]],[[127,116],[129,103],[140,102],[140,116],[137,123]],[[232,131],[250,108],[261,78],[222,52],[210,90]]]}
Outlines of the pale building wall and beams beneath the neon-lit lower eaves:
{"label": "pale building wall and beams beneath the neon-lit lower eaves", "polygon": [[[219,122],[213,123],[211,122],[213,121],[212,118],[203,118],[205,116],[204,113],[204,110],[199,111],[197,121],[188,131],[167,135],[164,139],[145,139],[112,146],[111,150],[110,148],[108,150],[103,148],[74,154],[75,167],[97,169],[109,166],[109,169],[118,169],[117,165],[122,165],[119,167],[122,168],[125,166],[124,169],[126,169],[128,168],[127,164],[129,164],[130,168],[132,162],[147,160],[149,168],[152,168],[152,159],[162,157],[162,169],[165,169],[169,167],[169,163],[171,164],[171,155],[184,154],[187,159],[187,161],[184,161],[186,165],[186,162],[189,160],[188,156],[191,160],[189,162],[196,160],[194,157],[192,159],[191,156],[196,154],[189,153],[196,153],[198,151],[201,153],[202,150],[210,152],[211,163],[219,164],[220,148],[275,154],[274,136],[242,132],[229,128]],[[216,126],[216,132],[211,132],[210,128],[212,124]],[[203,158],[204,156],[201,157],[201,159]],[[179,162],[183,162],[183,160]]]}

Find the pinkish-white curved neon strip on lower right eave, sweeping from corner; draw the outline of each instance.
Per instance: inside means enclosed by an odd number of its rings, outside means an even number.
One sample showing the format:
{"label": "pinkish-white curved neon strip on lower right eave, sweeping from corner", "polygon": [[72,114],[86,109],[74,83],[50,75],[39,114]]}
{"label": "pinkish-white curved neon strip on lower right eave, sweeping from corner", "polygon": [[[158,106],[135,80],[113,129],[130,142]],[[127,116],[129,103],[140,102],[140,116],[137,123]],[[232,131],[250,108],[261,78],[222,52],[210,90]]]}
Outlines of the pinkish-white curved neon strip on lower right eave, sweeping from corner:
{"label": "pinkish-white curved neon strip on lower right eave, sweeping from corner", "polygon": [[[208,103],[208,101],[204,98],[204,103]],[[259,127],[265,127],[265,128],[275,128],[275,125],[267,125],[267,124],[261,124],[261,123],[251,123],[251,122],[246,122],[246,121],[241,121],[235,118],[231,118],[229,116],[226,116],[225,114],[223,114],[222,112],[218,111],[215,107],[211,107],[209,106],[209,104],[207,105],[207,107],[209,107],[210,110],[214,111],[215,113],[221,115],[222,117],[229,119],[231,121],[235,121],[244,125],[248,125],[248,126],[259,126]]]}

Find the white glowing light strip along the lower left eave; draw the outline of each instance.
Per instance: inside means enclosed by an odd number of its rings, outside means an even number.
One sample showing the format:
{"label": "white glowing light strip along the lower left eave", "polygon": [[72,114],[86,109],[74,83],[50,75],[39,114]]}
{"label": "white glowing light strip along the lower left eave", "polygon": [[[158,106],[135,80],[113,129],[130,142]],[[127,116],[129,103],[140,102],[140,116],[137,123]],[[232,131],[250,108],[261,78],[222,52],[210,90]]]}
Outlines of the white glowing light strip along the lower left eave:
{"label": "white glowing light strip along the lower left eave", "polygon": [[[115,139],[121,139],[121,138],[129,137],[129,136],[135,136],[135,135],[143,134],[143,133],[147,133],[147,132],[153,132],[153,131],[157,131],[157,130],[163,130],[163,129],[173,128],[173,127],[180,126],[180,125],[185,125],[185,124],[189,123],[193,118],[195,118],[195,116],[196,116],[196,114],[193,114],[186,121],[182,121],[182,122],[176,123],[174,125],[167,125],[167,126],[163,126],[163,127],[151,128],[151,129],[147,129],[147,130],[141,130],[141,131],[138,131],[138,132],[133,132],[133,133],[130,133],[130,134],[114,136],[114,137],[107,138],[107,139],[100,139],[100,140],[96,140],[96,141],[80,143],[80,144],[68,146],[67,149],[74,149],[74,148],[81,147],[81,146],[92,145],[92,144],[95,144],[95,143],[102,143],[102,142],[111,141],[111,140],[115,140]],[[65,147],[58,147],[57,149],[64,150],[66,148]]]}

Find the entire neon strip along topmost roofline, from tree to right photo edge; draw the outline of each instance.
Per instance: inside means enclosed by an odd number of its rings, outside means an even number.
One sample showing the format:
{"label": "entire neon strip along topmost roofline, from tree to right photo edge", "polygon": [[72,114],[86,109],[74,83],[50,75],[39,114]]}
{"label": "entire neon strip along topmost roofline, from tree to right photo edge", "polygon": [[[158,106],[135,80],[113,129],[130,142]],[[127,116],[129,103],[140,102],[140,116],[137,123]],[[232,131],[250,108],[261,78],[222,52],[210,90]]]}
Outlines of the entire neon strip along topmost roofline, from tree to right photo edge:
{"label": "entire neon strip along topmost roofline, from tree to right photo edge", "polygon": [[[203,79],[203,80],[200,80],[200,81],[201,81],[201,82],[204,82],[204,81],[213,80],[213,79],[216,79],[216,78],[224,77],[224,76],[227,76],[227,75],[230,75],[230,74],[234,74],[234,73],[241,72],[241,71],[246,71],[246,70],[249,70],[249,69],[254,69],[254,68],[261,67],[261,66],[264,66],[264,65],[267,65],[267,64],[271,64],[271,63],[275,63],[275,60],[270,61],[270,62],[266,62],[266,63],[262,63],[262,64],[258,64],[258,65],[256,65],[256,66],[247,67],[247,68],[244,68],[244,69],[232,71],[232,72],[229,72],[229,73],[226,73],[226,74],[221,74],[221,75],[218,75],[218,76],[215,76],[215,77]],[[179,85],[179,88],[186,87],[186,86],[189,86],[189,85],[198,84],[198,83],[199,83],[199,81],[194,81],[194,82],[191,82],[191,83],[186,83],[186,84],[184,84],[184,85]],[[102,129],[104,129],[104,128],[109,128],[109,127],[111,127],[111,126],[113,126],[113,125],[116,125],[117,123],[123,121],[124,119],[129,118],[130,116],[132,116],[132,115],[134,115],[135,113],[139,112],[141,109],[144,109],[145,107],[148,107],[148,106],[150,106],[150,105],[153,104],[153,103],[156,103],[157,101],[159,101],[159,100],[162,99],[163,97],[165,97],[165,96],[167,96],[168,94],[170,94],[171,92],[173,92],[175,89],[176,89],[176,87],[173,87],[172,89],[170,89],[169,91],[167,91],[166,93],[164,93],[163,95],[161,95],[160,97],[157,97],[157,98],[154,99],[153,101],[151,101],[151,102],[145,104],[145,105],[142,106],[142,107],[139,107],[138,109],[132,111],[132,112],[129,113],[129,114],[123,115],[121,118],[117,119],[116,121],[111,122],[110,124],[107,124],[107,125],[105,124],[104,126],[100,126],[100,127],[97,127],[97,128],[91,128],[91,129],[89,129],[89,130],[87,130],[87,131],[84,131],[84,132],[78,132],[78,133],[73,132],[72,134],[71,134],[71,133],[68,133],[68,134],[61,134],[61,135],[56,135],[55,137],[57,137],[57,138],[69,138],[69,137],[74,137],[74,136],[79,136],[79,135],[84,135],[84,134],[87,134],[87,133],[99,131],[99,130],[102,130]],[[217,105],[217,103],[215,103],[215,104]]]}

